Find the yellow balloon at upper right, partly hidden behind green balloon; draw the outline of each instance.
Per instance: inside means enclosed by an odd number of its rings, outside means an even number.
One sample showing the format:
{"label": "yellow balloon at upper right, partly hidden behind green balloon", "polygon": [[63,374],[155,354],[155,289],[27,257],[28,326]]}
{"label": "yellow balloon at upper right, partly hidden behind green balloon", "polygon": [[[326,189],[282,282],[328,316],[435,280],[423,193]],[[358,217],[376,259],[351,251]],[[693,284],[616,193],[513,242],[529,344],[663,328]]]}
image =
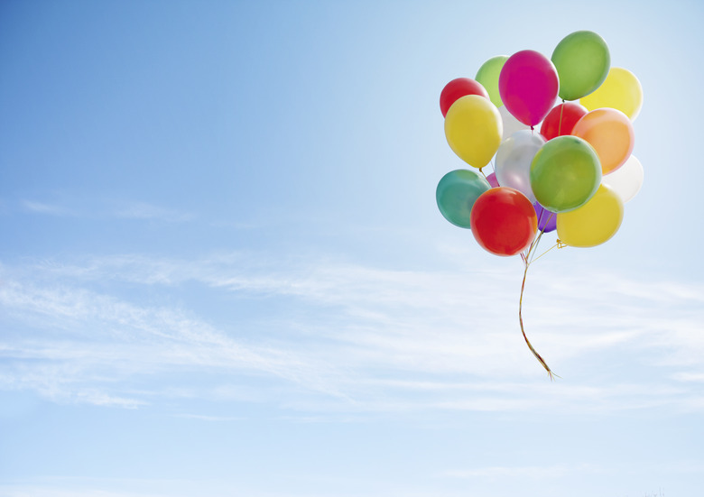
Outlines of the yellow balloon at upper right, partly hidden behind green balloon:
{"label": "yellow balloon at upper right, partly hidden behind green balloon", "polygon": [[579,100],[579,103],[588,110],[611,107],[635,121],[643,106],[643,87],[628,69],[611,68],[604,83],[594,93]]}

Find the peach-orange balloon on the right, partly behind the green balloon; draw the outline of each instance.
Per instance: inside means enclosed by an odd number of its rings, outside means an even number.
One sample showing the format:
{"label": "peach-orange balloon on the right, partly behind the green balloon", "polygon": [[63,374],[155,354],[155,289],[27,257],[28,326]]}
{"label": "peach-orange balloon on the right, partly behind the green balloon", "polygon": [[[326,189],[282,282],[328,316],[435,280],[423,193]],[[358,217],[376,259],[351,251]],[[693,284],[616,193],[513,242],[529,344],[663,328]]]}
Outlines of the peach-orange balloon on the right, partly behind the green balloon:
{"label": "peach-orange balloon on the right, partly behind the green balloon", "polygon": [[597,152],[601,173],[608,174],[625,164],[635,143],[633,124],[620,110],[595,109],[583,115],[572,134],[586,140]]}

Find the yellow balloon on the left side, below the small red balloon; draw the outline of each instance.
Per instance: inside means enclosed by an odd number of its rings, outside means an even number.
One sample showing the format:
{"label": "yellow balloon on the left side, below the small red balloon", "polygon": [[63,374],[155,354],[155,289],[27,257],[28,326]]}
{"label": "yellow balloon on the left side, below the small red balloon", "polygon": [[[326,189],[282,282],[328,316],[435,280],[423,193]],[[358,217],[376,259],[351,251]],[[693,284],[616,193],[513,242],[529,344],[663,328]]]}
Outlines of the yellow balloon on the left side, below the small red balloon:
{"label": "yellow balloon on the left side, below the small red balloon", "polygon": [[503,124],[498,109],[486,97],[459,97],[445,115],[445,137],[449,148],[462,161],[481,169],[491,161],[501,144]]}

